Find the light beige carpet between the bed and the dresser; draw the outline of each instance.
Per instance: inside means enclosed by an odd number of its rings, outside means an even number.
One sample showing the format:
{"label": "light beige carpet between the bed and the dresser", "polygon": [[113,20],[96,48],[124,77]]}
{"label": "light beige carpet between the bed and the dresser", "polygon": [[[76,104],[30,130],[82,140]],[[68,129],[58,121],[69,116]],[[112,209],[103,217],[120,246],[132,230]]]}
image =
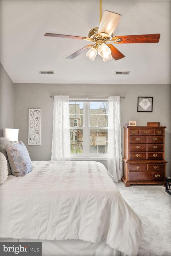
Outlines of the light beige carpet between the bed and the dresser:
{"label": "light beige carpet between the bed and the dresser", "polygon": [[115,183],[125,201],[142,221],[144,234],[138,256],[171,255],[171,195],[161,185]]}

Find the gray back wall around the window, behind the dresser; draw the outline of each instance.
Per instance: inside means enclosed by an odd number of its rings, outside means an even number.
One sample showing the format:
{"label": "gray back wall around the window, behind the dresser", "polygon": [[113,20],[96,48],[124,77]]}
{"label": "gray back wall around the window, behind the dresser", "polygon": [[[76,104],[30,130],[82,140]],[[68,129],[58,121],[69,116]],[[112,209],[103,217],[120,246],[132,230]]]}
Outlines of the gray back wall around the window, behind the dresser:
{"label": "gray back wall around the window, behind the dresser", "polygon": [[[160,122],[165,130],[165,160],[170,176],[171,106],[170,84],[14,84],[14,125],[34,160],[50,160],[52,147],[53,98],[50,95],[125,95],[121,99],[121,127],[136,120],[138,126]],[[137,112],[137,97],[152,96],[153,112]],[[41,146],[28,146],[28,109],[41,108]],[[122,129],[123,149],[123,129]],[[123,155],[123,153],[122,153]],[[103,162],[105,165],[106,163]]]}

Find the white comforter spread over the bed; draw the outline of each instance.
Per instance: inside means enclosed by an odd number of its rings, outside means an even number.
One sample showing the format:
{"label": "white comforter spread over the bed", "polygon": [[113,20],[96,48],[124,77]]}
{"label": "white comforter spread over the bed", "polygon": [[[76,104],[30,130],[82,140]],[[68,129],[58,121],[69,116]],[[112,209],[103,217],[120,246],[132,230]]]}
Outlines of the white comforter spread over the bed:
{"label": "white comforter spread over the bed", "polygon": [[104,165],[91,161],[33,161],[24,177],[0,186],[0,238],[103,241],[138,253],[141,220]]}

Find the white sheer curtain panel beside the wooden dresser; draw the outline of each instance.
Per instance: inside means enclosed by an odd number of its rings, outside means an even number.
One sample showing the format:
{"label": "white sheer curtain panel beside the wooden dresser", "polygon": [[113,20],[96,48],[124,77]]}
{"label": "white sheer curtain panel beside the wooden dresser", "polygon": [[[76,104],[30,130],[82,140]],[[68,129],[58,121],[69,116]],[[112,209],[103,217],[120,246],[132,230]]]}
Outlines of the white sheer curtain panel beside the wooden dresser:
{"label": "white sheer curtain panel beside the wooden dresser", "polygon": [[108,102],[107,168],[113,181],[118,182],[122,177],[120,96],[109,96]]}

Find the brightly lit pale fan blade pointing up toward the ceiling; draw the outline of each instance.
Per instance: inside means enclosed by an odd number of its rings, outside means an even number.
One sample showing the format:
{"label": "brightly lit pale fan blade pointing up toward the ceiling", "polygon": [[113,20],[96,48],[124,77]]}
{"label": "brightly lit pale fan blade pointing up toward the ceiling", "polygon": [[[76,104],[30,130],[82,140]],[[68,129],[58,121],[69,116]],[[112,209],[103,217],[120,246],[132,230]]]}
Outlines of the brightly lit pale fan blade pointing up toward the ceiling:
{"label": "brightly lit pale fan blade pointing up toward the ceiling", "polygon": [[120,19],[120,14],[113,13],[112,11],[104,11],[100,21],[98,34],[102,36],[111,36],[116,30]]}

